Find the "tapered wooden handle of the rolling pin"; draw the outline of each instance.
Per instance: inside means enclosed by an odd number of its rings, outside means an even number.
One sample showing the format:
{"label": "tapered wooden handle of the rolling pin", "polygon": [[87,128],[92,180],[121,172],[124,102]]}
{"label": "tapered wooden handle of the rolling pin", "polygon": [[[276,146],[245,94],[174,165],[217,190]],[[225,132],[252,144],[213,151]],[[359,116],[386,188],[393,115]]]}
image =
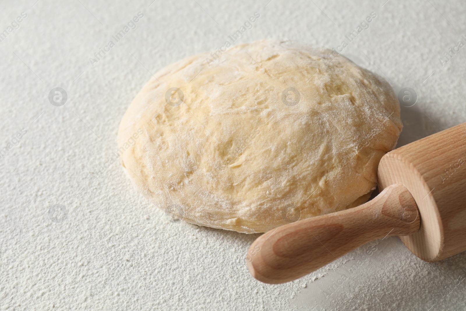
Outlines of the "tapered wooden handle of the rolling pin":
{"label": "tapered wooden handle of the rolling pin", "polygon": [[402,185],[391,185],[361,206],[281,226],[251,245],[247,265],[265,283],[284,283],[315,271],[357,247],[419,229],[416,203]]}

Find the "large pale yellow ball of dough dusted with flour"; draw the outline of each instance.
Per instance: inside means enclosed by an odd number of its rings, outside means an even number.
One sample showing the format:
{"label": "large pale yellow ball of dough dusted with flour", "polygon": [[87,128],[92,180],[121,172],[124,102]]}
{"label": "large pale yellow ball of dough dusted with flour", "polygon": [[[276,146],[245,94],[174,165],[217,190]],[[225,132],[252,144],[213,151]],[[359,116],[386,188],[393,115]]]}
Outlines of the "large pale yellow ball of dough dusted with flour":
{"label": "large pale yellow ball of dough dusted with flour", "polygon": [[262,40],[161,69],[118,143],[155,205],[259,233],[365,202],[402,127],[384,79],[326,48]]}

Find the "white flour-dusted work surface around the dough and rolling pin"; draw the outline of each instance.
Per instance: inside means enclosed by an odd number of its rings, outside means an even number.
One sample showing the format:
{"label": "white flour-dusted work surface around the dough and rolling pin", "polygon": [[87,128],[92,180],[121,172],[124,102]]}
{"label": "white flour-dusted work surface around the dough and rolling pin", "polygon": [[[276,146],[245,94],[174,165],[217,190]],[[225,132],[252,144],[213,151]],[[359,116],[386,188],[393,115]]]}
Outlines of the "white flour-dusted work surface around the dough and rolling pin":
{"label": "white flour-dusted work surface around the dough and rolling pin", "polygon": [[[0,149],[27,131],[0,159],[2,310],[465,310],[464,253],[425,263],[387,238],[295,282],[263,284],[245,263],[258,235],[171,222],[119,163],[90,175],[117,150],[121,117],[152,74],[221,47],[254,12],[235,44],[277,37],[337,48],[376,12],[343,54],[396,92],[416,90],[399,145],[464,122],[466,49],[439,61],[466,36],[464,2],[34,2],[0,4],[0,32],[27,13],[0,42]],[[92,66],[138,12],[137,28]],[[48,101],[55,87],[68,93],[62,107]],[[48,217],[55,204],[68,211],[62,223]],[[373,245],[381,251],[343,280]]]}

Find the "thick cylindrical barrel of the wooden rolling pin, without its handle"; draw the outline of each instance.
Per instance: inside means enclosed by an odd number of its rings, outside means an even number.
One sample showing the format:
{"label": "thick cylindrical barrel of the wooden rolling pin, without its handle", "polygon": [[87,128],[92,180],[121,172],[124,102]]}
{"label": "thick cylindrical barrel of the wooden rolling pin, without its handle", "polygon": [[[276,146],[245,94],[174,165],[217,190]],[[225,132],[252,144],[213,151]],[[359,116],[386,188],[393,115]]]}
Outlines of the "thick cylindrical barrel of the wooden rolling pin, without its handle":
{"label": "thick cylindrical barrel of the wooden rolling pin, without its handle", "polygon": [[466,123],[393,150],[381,159],[379,187],[403,184],[416,201],[420,230],[401,240],[435,262],[466,250]]}

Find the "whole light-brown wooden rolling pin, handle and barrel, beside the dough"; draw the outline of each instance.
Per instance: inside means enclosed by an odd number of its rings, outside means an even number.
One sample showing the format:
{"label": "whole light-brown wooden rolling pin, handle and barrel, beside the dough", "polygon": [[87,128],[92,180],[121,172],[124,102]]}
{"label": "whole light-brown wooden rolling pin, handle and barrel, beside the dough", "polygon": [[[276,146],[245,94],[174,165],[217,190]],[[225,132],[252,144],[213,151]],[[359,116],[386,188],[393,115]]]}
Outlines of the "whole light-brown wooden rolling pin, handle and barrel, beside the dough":
{"label": "whole light-brown wooden rolling pin, handle and barrel, beside the dough", "polygon": [[265,283],[305,276],[357,247],[391,235],[436,262],[466,250],[466,123],[388,152],[375,199],[261,235],[247,266]]}

